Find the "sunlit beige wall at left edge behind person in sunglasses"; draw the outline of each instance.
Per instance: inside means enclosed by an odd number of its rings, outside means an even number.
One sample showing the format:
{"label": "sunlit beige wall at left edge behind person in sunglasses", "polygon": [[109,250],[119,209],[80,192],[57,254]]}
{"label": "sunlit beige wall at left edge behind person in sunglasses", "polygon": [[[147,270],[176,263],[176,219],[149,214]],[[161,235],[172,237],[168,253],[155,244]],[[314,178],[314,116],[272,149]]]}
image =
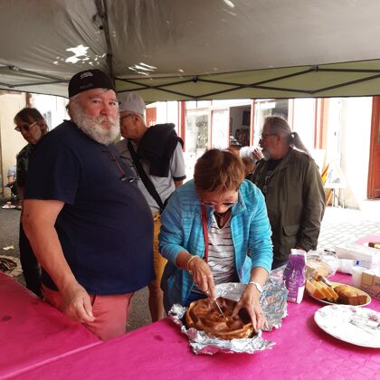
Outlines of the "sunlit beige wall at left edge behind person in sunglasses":
{"label": "sunlit beige wall at left edge behind person in sunglasses", "polygon": [[21,133],[14,130],[14,115],[26,106],[26,101],[24,92],[4,92],[0,92],[0,195],[9,196],[9,189],[4,189],[6,174],[15,165],[16,154],[26,145]]}

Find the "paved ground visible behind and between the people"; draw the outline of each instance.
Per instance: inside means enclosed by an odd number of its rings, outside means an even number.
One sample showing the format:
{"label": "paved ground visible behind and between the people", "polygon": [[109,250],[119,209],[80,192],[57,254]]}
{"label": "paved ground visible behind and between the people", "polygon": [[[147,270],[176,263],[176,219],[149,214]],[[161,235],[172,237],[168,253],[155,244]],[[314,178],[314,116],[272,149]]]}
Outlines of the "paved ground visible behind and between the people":
{"label": "paved ground visible behind and between the people", "polygon": [[[0,205],[6,200],[0,199]],[[0,255],[18,257],[18,223],[20,211],[0,208]],[[322,222],[318,249],[334,249],[342,242],[355,242],[367,235],[380,235],[380,200],[366,201],[361,211],[328,207]],[[5,250],[5,247],[14,246]],[[23,283],[23,276],[15,276]],[[150,323],[147,307],[147,289],[139,290],[132,299],[128,330]]]}

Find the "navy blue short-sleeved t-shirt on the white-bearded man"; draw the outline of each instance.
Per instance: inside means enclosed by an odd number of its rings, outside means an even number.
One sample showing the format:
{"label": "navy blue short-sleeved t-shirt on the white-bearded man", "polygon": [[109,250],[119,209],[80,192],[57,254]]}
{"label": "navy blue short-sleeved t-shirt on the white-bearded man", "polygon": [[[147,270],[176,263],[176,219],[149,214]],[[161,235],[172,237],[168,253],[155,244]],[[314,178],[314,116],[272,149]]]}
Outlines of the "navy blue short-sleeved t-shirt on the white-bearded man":
{"label": "navy blue short-sleeved t-shirt on the white-bearded man", "polygon": [[[55,228],[90,294],[128,293],[154,279],[152,214],[134,178],[113,146],[70,121],[48,133],[31,157],[25,198],[65,203]],[[43,283],[56,289],[44,271]]]}

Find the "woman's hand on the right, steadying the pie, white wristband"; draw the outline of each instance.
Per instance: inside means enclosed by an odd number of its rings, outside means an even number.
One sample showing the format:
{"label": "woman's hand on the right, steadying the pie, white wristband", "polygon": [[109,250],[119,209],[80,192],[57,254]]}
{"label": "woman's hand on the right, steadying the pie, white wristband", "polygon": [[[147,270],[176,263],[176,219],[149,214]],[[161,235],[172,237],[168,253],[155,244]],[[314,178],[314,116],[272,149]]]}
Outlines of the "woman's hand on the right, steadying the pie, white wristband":
{"label": "woman's hand on the right, steadying the pie, white wristband", "polygon": [[239,299],[239,302],[233,309],[233,316],[237,315],[240,309],[246,309],[252,320],[252,326],[255,331],[261,330],[262,328],[268,328],[268,322],[261,309],[259,300],[259,290],[256,289],[254,284],[248,284],[242,293],[241,299]]}

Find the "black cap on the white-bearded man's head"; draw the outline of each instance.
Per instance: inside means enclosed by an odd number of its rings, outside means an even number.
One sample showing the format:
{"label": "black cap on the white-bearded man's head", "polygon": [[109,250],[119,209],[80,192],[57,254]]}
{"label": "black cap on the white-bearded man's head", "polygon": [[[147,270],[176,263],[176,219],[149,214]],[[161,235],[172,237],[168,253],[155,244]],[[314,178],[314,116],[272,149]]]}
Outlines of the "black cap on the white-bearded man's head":
{"label": "black cap on the white-bearded man's head", "polygon": [[92,89],[109,89],[116,92],[114,82],[105,72],[98,69],[76,73],[69,82],[69,98],[82,91]]}

